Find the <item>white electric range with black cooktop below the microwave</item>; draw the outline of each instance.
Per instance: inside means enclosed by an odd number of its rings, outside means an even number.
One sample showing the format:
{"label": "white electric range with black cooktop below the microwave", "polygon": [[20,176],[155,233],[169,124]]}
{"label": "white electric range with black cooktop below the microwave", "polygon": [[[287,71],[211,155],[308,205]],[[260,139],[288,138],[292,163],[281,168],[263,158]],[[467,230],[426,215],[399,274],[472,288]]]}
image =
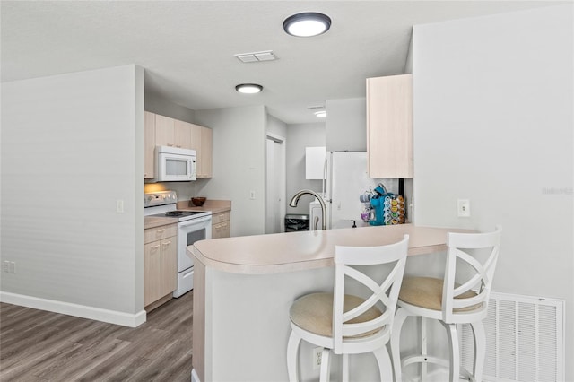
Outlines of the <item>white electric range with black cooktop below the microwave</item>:
{"label": "white electric range with black cooktop below the microwave", "polygon": [[199,240],[212,239],[211,211],[178,210],[177,203],[175,191],[143,195],[143,216],[165,217],[178,223],[178,289],[173,292],[173,297],[179,297],[194,287],[194,260],[187,256],[187,246]]}

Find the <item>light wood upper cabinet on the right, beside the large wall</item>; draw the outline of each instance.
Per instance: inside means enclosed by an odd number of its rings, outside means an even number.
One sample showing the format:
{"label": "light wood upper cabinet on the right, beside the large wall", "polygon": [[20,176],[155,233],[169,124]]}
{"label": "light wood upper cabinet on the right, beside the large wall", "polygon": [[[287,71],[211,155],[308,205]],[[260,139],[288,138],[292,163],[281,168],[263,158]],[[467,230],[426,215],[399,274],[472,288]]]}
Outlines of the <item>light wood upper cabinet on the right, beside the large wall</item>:
{"label": "light wood upper cabinet on the right, beside the large wall", "polygon": [[371,178],[413,178],[413,75],[367,79]]}

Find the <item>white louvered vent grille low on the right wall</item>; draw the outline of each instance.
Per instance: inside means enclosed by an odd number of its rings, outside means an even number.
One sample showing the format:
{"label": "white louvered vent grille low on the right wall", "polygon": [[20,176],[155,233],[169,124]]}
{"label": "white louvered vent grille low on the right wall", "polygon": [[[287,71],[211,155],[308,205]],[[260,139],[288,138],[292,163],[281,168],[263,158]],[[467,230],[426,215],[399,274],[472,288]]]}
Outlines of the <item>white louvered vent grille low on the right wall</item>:
{"label": "white louvered vent grille low on the right wall", "polygon": [[[491,293],[484,320],[486,381],[564,380],[564,300]],[[461,336],[462,364],[472,369],[473,339],[469,326]]]}

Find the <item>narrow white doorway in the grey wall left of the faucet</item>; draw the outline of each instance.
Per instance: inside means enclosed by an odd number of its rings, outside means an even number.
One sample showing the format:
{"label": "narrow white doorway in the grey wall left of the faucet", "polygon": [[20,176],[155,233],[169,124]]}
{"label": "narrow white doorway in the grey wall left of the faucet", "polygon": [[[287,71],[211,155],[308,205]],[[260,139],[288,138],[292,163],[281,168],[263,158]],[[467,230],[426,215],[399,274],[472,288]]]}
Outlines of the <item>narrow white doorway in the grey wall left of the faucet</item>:
{"label": "narrow white doorway in the grey wall left of the faucet", "polygon": [[266,140],[265,233],[285,230],[285,138],[271,133]]}

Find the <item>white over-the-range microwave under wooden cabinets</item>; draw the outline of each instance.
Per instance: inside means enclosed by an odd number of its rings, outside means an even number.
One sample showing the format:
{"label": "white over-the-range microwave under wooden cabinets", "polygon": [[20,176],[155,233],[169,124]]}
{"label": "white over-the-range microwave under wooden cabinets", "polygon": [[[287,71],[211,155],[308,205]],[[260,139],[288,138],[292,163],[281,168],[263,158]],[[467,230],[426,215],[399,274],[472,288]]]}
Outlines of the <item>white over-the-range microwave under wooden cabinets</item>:
{"label": "white over-the-range microwave under wooden cabinets", "polygon": [[188,182],[197,178],[196,151],[171,146],[155,147],[155,181]]}

